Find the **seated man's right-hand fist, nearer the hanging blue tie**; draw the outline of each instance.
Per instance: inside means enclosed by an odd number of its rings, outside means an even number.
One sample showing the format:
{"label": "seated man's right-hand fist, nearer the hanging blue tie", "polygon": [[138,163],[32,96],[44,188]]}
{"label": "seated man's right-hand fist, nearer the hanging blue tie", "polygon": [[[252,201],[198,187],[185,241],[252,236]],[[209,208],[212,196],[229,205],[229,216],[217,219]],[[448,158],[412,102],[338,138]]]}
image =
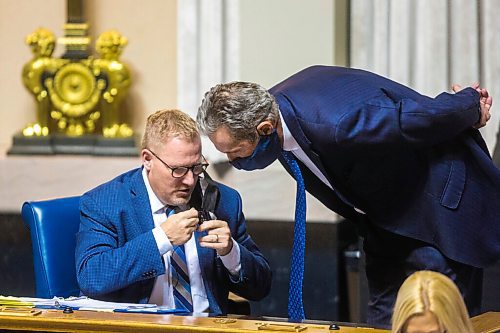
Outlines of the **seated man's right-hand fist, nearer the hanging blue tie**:
{"label": "seated man's right-hand fist, nearer the hanging blue tie", "polygon": [[215,249],[220,256],[225,256],[231,251],[233,239],[226,221],[205,221],[200,225],[198,231],[206,230],[208,230],[208,235],[200,237],[200,246]]}

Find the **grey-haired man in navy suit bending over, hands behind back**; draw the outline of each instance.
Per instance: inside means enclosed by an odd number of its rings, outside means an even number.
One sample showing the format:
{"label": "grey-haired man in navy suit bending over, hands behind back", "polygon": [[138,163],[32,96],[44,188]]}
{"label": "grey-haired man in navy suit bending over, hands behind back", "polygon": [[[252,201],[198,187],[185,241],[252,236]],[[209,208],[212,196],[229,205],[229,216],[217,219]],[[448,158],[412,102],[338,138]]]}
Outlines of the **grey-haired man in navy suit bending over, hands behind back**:
{"label": "grey-haired man in navy suit bending over, hands behind back", "polygon": [[369,323],[388,325],[400,285],[425,269],[449,276],[476,315],[482,268],[500,259],[500,171],[477,130],[491,116],[488,91],[453,90],[430,98],[374,73],[313,66],[269,91],[219,84],[197,121],[236,168],[279,159],[357,223]]}

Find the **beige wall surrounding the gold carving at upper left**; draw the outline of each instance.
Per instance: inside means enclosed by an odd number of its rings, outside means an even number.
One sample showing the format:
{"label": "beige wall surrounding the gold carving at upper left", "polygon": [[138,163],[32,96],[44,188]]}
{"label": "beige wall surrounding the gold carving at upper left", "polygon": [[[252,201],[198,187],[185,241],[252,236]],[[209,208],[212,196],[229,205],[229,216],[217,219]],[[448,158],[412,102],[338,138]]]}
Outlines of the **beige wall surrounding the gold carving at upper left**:
{"label": "beige wall surrounding the gold carving at upper left", "polygon": [[[93,40],[108,29],[129,39],[121,59],[133,75],[124,101],[129,122],[142,132],[153,111],[176,106],[176,0],[86,0],[85,10]],[[35,120],[35,103],[21,81],[21,70],[31,58],[26,35],[38,27],[64,34],[65,0],[0,0],[0,151],[10,147],[14,133]],[[56,54],[63,47],[58,45]]]}

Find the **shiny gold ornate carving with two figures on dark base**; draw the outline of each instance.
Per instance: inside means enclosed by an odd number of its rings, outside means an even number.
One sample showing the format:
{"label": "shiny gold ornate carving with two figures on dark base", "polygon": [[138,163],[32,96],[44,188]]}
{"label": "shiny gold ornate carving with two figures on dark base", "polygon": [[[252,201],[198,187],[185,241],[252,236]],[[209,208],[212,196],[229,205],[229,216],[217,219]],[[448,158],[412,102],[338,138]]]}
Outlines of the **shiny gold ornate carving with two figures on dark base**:
{"label": "shiny gold ornate carving with two figures on dark base", "polygon": [[[79,25],[73,28],[80,29]],[[82,48],[90,40],[86,36],[77,39]],[[74,45],[80,43],[77,39],[71,41],[73,49],[78,49]],[[109,138],[133,135],[119,108],[131,82],[127,66],[119,60],[127,44],[125,37],[114,30],[104,32],[96,42],[100,57],[85,59],[53,58],[55,37],[43,28],[30,34],[26,43],[33,59],[24,66],[22,77],[35,97],[37,119],[23,130],[24,136],[99,132]]]}

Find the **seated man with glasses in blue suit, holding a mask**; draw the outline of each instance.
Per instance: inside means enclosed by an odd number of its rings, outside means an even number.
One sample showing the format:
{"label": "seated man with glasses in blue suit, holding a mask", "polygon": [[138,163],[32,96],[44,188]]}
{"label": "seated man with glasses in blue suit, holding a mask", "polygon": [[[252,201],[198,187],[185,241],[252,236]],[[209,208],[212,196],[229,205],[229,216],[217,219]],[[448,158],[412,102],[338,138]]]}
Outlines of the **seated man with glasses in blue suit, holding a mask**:
{"label": "seated man with glasses in blue suit, holding a mask", "polygon": [[[208,164],[194,120],[178,110],[150,115],[141,159],[142,168],[81,198],[82,293],[213,314],[227,312],[229,291],[265,297],[271,270],[246,231],[239,194],[200,177]],[[213,211],[199,224],[204,194]]]}

